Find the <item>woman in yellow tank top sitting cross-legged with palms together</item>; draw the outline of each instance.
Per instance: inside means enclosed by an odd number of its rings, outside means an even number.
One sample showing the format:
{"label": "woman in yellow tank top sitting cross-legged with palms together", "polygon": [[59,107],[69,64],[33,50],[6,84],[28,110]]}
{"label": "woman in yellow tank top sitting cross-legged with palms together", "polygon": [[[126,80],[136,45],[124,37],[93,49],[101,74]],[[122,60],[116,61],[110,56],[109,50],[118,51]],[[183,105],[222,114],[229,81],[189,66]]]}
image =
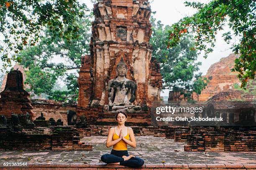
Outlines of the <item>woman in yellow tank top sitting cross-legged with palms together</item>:
{"label": "woman in yellow tank top sitting cross-legged with palms together", "polygon": [[101,156],[102,162],[132,168],[141,167],[144,165],[144,161],[141,158],[129,155],[127,151],[127,144],[133,148],[136,148],[136,141],[133,134],[133,129],[125,127],[125,121],[127,120],[126,113],[124,111],[118,112],[115,119],[118,122],[118,126],[115,128],[110,128],[106,143],[107,148],[113,146],[113,149],[111,150],[110,154]]}

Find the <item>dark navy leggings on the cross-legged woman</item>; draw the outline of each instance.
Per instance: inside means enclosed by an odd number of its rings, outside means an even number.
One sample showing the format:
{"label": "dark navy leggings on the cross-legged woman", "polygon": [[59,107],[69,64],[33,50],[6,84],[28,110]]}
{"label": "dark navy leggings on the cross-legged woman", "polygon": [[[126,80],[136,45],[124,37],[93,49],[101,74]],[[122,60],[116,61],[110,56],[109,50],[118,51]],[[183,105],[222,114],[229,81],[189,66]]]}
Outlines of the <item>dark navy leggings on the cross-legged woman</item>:
{"label": "dark navy leggings on the cross-legged woman", "polygon": [[126,167],[132,167],[132,168],[138,168],[144,165],[144,160],[138,157],[131,158],[129,160],[125,160],[122,158],[122,156],[129,156],[127,150],[111,150],[111,153],[107,153],[101,156],[101,160],[104,163],[118,163],[120,162],[120,165],[126,166]]}

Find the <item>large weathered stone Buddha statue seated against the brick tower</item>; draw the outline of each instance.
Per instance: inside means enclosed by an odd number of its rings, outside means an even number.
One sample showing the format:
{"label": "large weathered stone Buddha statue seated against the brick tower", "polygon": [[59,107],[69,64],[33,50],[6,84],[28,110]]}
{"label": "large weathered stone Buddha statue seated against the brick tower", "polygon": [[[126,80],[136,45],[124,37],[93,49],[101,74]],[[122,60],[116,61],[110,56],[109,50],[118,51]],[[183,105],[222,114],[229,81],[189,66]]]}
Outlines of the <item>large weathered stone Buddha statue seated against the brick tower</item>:
{"label": "large weathered stone Buddha statue seated against the brick tower", "polygon": [[123,61],[123,57],[117,64],[117,78],[108,82],[108,105],[105,105],[105,110],[118,112],[126,110],[127,112],[138,112],[140,106],[133,105],[135,100],[137,85],[132,80],[126,78],[127,65]]}

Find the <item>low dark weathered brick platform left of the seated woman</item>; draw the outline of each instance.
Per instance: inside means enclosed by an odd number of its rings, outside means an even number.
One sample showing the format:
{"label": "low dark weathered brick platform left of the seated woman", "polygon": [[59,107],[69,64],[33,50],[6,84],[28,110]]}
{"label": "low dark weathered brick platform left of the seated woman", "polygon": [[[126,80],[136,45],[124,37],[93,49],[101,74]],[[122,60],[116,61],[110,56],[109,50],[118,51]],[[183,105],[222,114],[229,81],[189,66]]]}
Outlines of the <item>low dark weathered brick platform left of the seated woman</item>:
{"label": "low dark weathered brick platform left of the seated woman", "polygon": [[74,126],[38,127],[22,132],[0,128],[0,136],[0,150],[92,150],[90,143],[80,141],[84,135],[80,136]]}

